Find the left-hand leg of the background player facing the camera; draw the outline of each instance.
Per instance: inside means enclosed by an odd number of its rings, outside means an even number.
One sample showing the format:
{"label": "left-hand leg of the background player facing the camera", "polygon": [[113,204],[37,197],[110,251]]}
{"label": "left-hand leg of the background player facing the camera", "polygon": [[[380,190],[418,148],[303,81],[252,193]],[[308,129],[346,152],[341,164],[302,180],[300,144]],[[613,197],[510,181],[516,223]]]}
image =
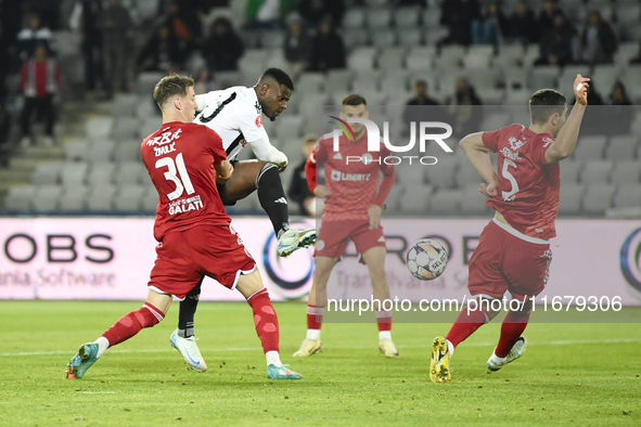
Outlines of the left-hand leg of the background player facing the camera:
{"label": "left-hand leg of the background player facing the camera", "polygon": [[336,264],[337,258],[316,256],[316,271],[313,274],[313,284],[309,292],[307,301],[307,336],[300,344],[298,351],[294,353],[296,358],[305,358],[319,353],[323,345],[320,340],[320,331],[323,323],[323,313],[328,300],[328,281],[332,269]]}

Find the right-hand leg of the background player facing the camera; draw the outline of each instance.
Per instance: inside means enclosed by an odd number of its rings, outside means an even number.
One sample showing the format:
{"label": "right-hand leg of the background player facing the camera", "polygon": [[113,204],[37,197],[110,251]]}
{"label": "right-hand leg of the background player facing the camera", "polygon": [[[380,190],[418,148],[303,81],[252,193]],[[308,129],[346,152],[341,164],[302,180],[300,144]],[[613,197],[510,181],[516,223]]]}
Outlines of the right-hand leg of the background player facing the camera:
{"label": "right-hand leg of the background player facing the camera", "polygon": [[379,350],[386,358],[398,358],[399,353],[392,340],[392,311],[385,310],[383,301],[389,299],[389,286],[385,279],[385,255],[387,249],[385,246],[375,246],[364,251],[362,259],[368,266],[370,277],[372,280],[372,287],[374,293],[374,303],[376,300],[381,301],[381,306],[376,306],[376,324],[379,325]]}

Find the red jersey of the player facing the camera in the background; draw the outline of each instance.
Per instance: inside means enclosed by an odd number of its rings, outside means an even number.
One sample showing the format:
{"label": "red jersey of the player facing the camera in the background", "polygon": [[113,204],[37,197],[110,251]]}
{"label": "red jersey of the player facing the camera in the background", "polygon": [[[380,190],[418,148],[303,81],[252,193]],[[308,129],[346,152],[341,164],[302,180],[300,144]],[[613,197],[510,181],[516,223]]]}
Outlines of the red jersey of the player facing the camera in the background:
{"label": "red jersey of the player facing the camera in the background", "polygon": [[[328,135],[332,135],[331,133]],[[309,189],[316,189],[316,168],[324,165],[325,185],[332,196],[325,200],[323,219],[326,221],[368,220],[368,209],[372,205],[383,206],[385,197],[394,185],[394,166],[384,158],[392,155],[381,143],[379,152],[368,152],[367,132],[352,142],[342,134],[338,151],[334,151],[332,137],[321,137],[305,165]],[[379,171],[383,172],[381,187]]]}

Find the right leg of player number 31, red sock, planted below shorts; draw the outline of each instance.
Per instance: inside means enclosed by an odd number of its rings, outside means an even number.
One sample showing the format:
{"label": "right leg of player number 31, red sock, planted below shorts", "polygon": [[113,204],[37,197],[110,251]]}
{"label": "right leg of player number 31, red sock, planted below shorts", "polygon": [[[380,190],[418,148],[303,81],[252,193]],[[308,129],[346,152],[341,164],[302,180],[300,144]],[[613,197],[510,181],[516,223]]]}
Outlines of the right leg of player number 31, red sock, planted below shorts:
{"label": "right leg of player number 31, red sock, planted below shorts", "polygon": [[241,274],[236,289],[247,299],[254,312],[254,325],[267,361],[267,377],[270,379],[300,379],[300,374],[283,365],[279,354],[279,322],[257,270]]}

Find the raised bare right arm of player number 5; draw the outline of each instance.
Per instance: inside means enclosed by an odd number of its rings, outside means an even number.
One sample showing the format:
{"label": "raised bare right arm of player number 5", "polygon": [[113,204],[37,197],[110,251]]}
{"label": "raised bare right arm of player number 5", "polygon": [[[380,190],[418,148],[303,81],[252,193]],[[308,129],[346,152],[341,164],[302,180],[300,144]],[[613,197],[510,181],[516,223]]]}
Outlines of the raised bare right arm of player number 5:
{"label": "raised bare right arm of player number 5", "polygon": [[572,113],[569,113],[569,116],[567,117],[567,121],[559,132],[556,141],[546,150],[546,163],[548,165],[555,164],[569,157],[574,151],[576,141],[579,137],[581,120],[586,113],[586,106],[588,105],[588,81],[590,81],[589,78],[585,78],[580,74],[577,74],[576,80],[574,80],[574,95],[576,102],[574,108],[572,108]]}

